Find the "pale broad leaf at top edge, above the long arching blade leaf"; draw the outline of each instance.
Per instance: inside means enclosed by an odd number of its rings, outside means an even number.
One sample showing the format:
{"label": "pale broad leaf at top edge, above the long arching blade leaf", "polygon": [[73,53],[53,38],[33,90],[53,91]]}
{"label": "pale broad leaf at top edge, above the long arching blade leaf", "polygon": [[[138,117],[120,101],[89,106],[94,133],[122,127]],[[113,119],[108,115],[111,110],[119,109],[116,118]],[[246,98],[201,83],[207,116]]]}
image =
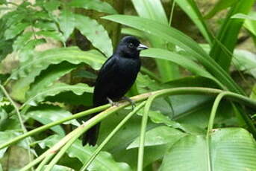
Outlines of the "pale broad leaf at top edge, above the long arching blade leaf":
{"label": "pale broad leaf at top edge, above the long arching blade leaf", "polygon": [[168,25],[168,19],[160,0],[132,0],[132,3],[139,16]]}

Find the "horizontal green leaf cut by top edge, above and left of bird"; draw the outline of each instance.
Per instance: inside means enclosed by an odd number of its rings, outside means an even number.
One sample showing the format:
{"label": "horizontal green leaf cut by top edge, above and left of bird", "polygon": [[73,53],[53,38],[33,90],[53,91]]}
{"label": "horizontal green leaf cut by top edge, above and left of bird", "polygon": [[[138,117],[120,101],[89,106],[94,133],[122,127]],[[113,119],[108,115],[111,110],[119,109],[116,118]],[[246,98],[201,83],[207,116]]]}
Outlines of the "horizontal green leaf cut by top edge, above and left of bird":
{"label": "horizontal green leaf cut by top edge, above and left of bird", "polygon": [[100,0],[72,0],[68,4],[70,7],[81,7],[87,10],[97,10],[104,13],[117,13],[116,10],[107,2]]}

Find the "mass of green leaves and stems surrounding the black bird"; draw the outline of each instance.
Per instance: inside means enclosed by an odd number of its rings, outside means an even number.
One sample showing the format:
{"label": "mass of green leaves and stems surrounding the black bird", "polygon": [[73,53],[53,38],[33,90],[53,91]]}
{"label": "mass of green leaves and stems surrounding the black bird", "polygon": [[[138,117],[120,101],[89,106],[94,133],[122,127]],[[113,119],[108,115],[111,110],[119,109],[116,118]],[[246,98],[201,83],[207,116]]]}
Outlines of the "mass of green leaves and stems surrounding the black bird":
{"label": "mass of green leaves and stems surrounding the black bird", "polygon": [[[254,1],[206,10],[196,2],[0,0],[0,170],[13,164],[14,146],[30,156],[22,171],[256,170],[256,60],[236,47],[242,26],[256,42]],[[202,38],[181,32],[181,10]],[[208,25],[224,10],[216,28]],[[93,108],[97,72],[121,30],[150,47],[127,94],[138,95],[136,108]],[[99,122],[97,145],[81,146]]]}

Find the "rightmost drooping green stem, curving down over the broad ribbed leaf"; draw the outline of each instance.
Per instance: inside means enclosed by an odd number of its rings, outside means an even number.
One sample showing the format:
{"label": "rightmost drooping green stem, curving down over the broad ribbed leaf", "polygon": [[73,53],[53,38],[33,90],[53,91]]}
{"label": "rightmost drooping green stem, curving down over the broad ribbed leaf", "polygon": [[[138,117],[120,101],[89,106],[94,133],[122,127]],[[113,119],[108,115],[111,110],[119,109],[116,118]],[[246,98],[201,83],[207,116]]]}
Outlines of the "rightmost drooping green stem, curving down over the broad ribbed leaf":
{"label": "rightmost drooping green stem, curving down over the broad ribbed leaf", "polygon": [[216,116],[216,111],[218,109],[219,103],[222,100],[222,98],[227,94],[228,94],[227,91],[223,91],[216,97],[216,99],[214,100],[214,103],[213,103],[213,107],[210,112],[210,119],[209,119],[207,134],[206,134],[206,138],[205,138],[206,146],[207,146],[208,170],[212,170],[212,165],[211,165],[211,160],[210,160],[210,133],[213,129],[213,123],[214,123],[214,119]]}

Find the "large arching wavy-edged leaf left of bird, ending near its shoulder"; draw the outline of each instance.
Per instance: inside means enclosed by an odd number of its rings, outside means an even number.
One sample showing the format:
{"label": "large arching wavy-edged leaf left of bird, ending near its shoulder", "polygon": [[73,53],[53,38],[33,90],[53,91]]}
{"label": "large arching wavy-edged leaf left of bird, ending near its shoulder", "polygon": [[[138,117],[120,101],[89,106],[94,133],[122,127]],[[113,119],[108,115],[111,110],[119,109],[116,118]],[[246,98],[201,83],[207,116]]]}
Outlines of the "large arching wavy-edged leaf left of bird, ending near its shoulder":
{"label": "large arching wavy-edged leaf left of bird, ending near its shoulder", "polygon": [[[34,79],[40,75],[40,72],[49,67],[49,65],[59,64],[67,61],[72,64],[84,62],[93,69],[98,70],[105,58],[93,51],[81,51],[78,48],[54,48],[40,53],[35,53],[34,57],[22,62],[8,78],[9,80],[17,80],[13,85],[12,96],[15,99],[25,100],[25,91],[29,85],[34,82]],[[23,90],[23,91],[21,91]]]}

